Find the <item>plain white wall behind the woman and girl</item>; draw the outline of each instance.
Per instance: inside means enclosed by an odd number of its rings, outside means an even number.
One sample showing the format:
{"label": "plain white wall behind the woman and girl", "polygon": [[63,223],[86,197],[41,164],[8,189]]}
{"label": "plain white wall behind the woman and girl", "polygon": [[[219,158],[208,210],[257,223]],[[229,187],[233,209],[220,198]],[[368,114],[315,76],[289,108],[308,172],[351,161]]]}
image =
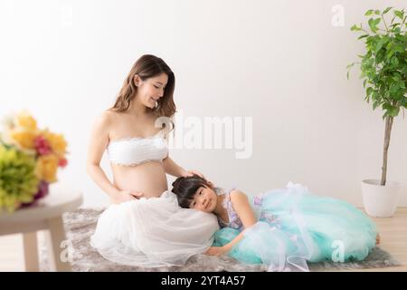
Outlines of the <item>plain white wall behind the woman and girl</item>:
{"label": "plain white wall behind the woman and girl", "polygon": [[[85,207],[107,198],[86,174],[94,118],[115,100],[144,53],[168,63],[185,117],[252,117],[250,159],[236,150],[171,150],[186,169],[254,194],[289,180],[362,204],[361,179],[380,179],[382,111],[364,102],[364,45],[350,32],[369,8],[407,1],[15,1],[0,2],[0,114],[28,109],[63,132],[70,165],[59,178]],[[334,26],[341,5],[344,26]],[[182,126],[182,124],[178,124]],[[394,121],[388,180],[407,181],[407,120]],[[106,156],[103,166],[109,169]],[[173,179],[170,178],[169,182]],[[402,205],[407,205],[404,190]]]}

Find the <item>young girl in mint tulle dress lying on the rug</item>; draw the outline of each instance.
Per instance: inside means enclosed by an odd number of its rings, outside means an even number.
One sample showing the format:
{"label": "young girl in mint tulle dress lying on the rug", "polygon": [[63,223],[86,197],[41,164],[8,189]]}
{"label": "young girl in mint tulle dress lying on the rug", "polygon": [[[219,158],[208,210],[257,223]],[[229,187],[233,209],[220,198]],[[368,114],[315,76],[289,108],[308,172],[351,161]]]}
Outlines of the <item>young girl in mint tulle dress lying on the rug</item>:
{"label": "young girl in mint tulle dress lying on the rug", "polygon": [[172,191],[182,208],[217,216],[208,255],[228,253],[270,271],[308,271],[308,262],[363,260],[379,242],[374,223],[342,200],[313,195],[300,184],[273,189],[249,200],[199,176],[176,179]]}

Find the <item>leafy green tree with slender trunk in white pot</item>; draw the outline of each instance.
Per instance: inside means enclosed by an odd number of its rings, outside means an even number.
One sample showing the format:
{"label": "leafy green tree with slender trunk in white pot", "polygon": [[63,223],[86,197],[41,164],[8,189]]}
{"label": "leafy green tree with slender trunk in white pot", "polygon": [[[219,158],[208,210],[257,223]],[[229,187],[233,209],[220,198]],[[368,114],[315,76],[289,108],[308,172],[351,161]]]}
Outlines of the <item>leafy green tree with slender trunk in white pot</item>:
{"label": "leafy green tree with slender trunk in white pot", "polygon": [[[402,184],[386,180],[387,153],[390,144],[393,119],[407,108],[407,35],[404,9],[387,7],[383,11],[368,10],[368,27],[353,25],[352,31],[362,33],[358,40],[364,41],[365,53],[358,55],[361,75],[364,79],[364,100],[372,102],[373,110],[381,106],[384,111],[384,144],[382,178],[362,180],[364,208],[374,217],[391,217],[397,208]],[[390,20],[390,19],[391,20]],[[355,63],[346,66],[349,70]]]}

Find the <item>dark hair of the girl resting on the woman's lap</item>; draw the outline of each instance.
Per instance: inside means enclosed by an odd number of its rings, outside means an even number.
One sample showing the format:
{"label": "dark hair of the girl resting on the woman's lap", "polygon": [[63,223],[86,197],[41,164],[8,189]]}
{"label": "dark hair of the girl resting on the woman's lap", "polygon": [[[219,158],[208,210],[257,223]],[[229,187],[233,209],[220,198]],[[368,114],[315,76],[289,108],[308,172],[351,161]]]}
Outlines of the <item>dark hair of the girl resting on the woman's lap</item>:
{"label": "dark hair of the girl resting on the woman's lap", "polygon": [[175,179],[171,191],[175,193],[176,198],[178,199],[178,204],[181,208],[189,208],[189,204],[194,199],[196,190],[201,187],[213,189],[206,179],[194,174],[191,177]]}

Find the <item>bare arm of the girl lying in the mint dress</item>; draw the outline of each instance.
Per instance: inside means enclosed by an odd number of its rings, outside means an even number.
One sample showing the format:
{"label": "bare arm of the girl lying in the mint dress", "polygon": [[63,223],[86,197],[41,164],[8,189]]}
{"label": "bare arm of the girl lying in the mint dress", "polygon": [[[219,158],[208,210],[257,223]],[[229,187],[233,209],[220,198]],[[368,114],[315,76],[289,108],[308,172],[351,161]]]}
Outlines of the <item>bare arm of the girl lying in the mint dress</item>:
{"label": "bare arm of the girl lying in the mint dress", "polygon": [[[244,228],[251,227],[254,225],[257,220],[256,216],[251,209],[251,205],[249,203],[249,199],[241,190],[234,189],[231,192],[231,201],[232,201],[232,208],[236,211],[236,214],[241,218],[241,223],[243,224]],[[229,252],[234,245],[236,245],[243,236],[243,232],[241,232],[238,236],[234,237],[232,241],[222,247],[211,247],[206,252],[208,255],[219,256],[223,253]]]}

